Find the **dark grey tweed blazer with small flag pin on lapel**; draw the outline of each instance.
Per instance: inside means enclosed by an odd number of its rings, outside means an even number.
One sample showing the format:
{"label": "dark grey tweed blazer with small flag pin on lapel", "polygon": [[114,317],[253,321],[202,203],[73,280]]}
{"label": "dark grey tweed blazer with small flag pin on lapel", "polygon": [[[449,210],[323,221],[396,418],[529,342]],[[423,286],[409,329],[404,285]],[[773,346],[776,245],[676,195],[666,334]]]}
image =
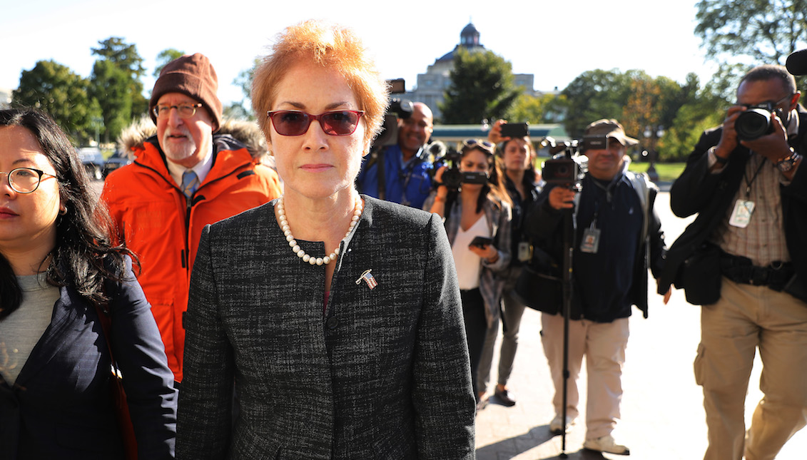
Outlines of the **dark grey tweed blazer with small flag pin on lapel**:
{"label": "dark grey tweed blazer with small flag pin on lapel", "polygon": [[[276,201],[205,228],[185,318],[178,458],[474,458],[475,400],[441,220],[362,197],[325,311],[325,267],[292,253]],[[322,242],[298,243],[325,255]]]}

